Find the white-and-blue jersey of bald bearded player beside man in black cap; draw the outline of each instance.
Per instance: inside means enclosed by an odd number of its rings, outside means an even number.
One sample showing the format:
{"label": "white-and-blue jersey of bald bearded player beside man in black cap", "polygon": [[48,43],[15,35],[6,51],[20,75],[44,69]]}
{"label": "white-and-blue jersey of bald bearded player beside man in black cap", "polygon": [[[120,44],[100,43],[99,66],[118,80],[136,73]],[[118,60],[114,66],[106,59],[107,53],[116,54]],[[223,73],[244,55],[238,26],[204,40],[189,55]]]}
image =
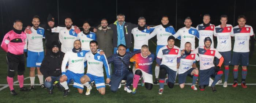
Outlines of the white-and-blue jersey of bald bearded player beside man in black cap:
{"label": "white-and-blue jersey of bald bearded player beside man in black cap", "polygon": [[61,52],[66,53],[73,49],[75,40],[78,40],[77,35],[74,31],[74,26],[70,30],[67,27],[60,30],[59,41],[61,43]]}

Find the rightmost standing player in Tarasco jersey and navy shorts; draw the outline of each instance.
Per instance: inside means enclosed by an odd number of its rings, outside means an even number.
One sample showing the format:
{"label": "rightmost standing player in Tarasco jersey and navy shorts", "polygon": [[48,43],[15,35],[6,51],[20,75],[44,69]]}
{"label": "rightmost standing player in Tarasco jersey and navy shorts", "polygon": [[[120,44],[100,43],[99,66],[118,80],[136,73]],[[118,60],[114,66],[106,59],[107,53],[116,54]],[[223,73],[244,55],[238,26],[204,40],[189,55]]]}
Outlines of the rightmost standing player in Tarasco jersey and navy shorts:
{"label": "rightmost standing player in Tarasco jersey and navy shorts", "polygon": [[234,34],[231,34],[235,37],[234,49],[232,64],[234,65],[233,75],[234,83],[232,87],[237,87],[238,83],[238,66],[242,66],[242,88],[247,88],[245,84],[245,79],[247,75],[247,66],[249,65],[249,39],[251,38],[251,51],[254,51],[254,34],[251,26],[246,25],[246,17],[240,15],[237,18],[238,26],[233,28]]}

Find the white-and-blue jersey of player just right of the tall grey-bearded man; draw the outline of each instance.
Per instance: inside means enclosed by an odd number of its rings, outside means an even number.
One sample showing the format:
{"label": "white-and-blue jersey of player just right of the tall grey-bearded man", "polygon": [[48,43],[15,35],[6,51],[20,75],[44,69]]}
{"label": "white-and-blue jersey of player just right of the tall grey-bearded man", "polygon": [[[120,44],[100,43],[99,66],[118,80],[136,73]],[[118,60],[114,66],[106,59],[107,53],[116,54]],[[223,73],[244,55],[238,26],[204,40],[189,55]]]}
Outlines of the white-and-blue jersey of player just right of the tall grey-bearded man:
{"label": "white-and-blue jersey of player just right of the tall grey-bearded man", "polygon": [[148,45],[148,39],[150,39],[150,33],[154,28],[149,30],[145,28],[144,30],[139,30],[138,27],[132,29],[132,34],[134,38],[134,47],[133,49],[141,49],[142,45]]}

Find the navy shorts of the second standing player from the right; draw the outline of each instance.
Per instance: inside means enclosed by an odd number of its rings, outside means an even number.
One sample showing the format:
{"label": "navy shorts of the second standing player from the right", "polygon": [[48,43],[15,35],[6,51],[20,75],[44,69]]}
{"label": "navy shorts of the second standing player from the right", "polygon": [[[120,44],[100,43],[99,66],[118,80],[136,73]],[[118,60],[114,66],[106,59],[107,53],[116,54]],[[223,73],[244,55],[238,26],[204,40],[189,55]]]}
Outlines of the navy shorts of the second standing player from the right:
{"label": "navy shorts of the second standing player from the right", "polygon": [[[231,63],[231,51],[227,51],[227,52],[219,52],[222,57],[224,58],[224,65],[230,65]],[[216,64],[219,64],[219,59],[216,58]]]}

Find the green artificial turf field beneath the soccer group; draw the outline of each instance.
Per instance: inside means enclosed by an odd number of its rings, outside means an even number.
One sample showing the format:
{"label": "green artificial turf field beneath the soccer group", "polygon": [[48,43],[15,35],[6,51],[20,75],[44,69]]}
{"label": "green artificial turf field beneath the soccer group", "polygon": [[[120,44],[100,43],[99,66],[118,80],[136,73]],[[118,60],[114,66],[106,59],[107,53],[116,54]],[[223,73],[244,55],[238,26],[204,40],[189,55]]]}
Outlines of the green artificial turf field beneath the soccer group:
{"label": "green artificial turf field beneath the soccer group", "polygon": [[[215,46],[217,45],[217,41],[215,40]],[[156,39],[152,38],[149,40],[150,51],[155,53],[155,43]],[[234,41],[232,41],[233,46]],[[198,41],[196,41],[198,44]],[[180,41],[176,40],[176,46],[180,46]],[[196,46],[197,47],[197,46]],[[233,48],[233,47],[232,47]],[[217,92],[212,92],[210,87],[206,87],[205,91],[193,91],[190,88],[190,85],[185,85],[184,89],[181,89],[179,85],[174,85],[174,88],[170,89],[167,85],[165,85],[165,89],[162,95],[158,95],[159,85],[153,85],[152,90],[147,90],[145,87],[138,85],[138,90],[135,95],[129,94],[124,91],[124,85],[115,93],[110,91],[110,87],[106,85],[106,94],[101,95],[98,93],[97,89],[94,87],[89,96],[83,94],[79,94],[76,88],[73,88],[72,85],[69,85],[71,91],[69,92],[67,97],[63,97],[63,92],[60,92],[57,88],[54,88],[53,94],[49,95],[47,89],[40,88],[39,85],[35,86],[34,91],[29,92],[20,92],[19,91],[19,83],[14,84],[14,89],[18,93],[16,96],[12,96],[10,94],[9,87],[6,87],[7,84],[7,64],[6,64],[6,53],[1,49],[0,50],[0,102],[6,103],[24,103],[24,102],[89,102],[89,103],[98,103],[98,102],[111,102],[111,103],[120,103],[120,102],[147,102],[147,103],[157,103],[157,102],[235,102],[235,103],[252,103],[256,102],[256,53],[254,52],[252,58],[250,59],[250,66],[248,66],[248,73],[246,77],[246,84],[248,88],[242,88],[241,85],[238,85],[236,88],[228,87],[224,88],[221,85],[216,85]],[[155,78],[154,75],[154,67],[155,62],[153,63],[153,81]],[[113,66],[112,66],[113,68]],[[223,66],[222,66],[223,70]],[[238,82],[241,82],[241,67],[239,68]],[[17,73],[16,73],[17,74]],[[104,73],[105,74],[105,73]],[[27,79],[26,79],[27,77]],[[24,75],[24,84],[25,87],[29,87],[30,79],[29,79],[29,68],[26,68]],[[17,76],[14,77],[14,82],[17,81]],[[224,75],[222,76],[222,81],[224,81]],[[192,79],[187,77],[186,83],[191,83]],[[233,66],[230,65],[229,70],[229,79],[227,81],[229,84],[233,83]],[[38,84],[38,77],[35,78],[35,84]],[[178,83],[178,79],[176,80]],[[222,82],[223,83],[223,82]],[[239,83],[240,84],[240,83]],[[196,85],[199,88],[198,85]],[[132,87],[131,87],[132,89]]]}

